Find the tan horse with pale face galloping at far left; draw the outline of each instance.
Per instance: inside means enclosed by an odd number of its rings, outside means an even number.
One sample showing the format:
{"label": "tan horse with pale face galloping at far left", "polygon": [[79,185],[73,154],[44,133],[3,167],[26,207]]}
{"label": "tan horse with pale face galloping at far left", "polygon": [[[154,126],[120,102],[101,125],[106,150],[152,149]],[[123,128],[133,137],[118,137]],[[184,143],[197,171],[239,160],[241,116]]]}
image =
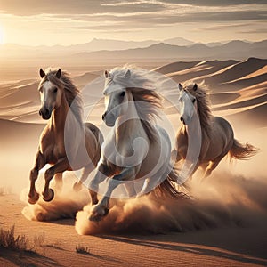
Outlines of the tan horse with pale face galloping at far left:
{"label": "tan horse with pale face galloping at far left", "polygon": [[[70,79],[69,73],[61,69],[48,69],[46,72],[40,69],[39,74],[41,81],[38,91],[42,103],[39,115],[49,121],[40,136],[35,166],[29,175],[30,204],[35,204],[39,199],[36,179],[39,170],[46,164],[52,166],[44,173],[44,201],[51,201],[54,197],[53,189],[49,188],[53,176],[57,188],[61,190],[62,173],[67,170],[83,168],[80,181],[73,186],[74,190],[80,190],[82,182],[101,158],[103,142],[101,131],[95,125],[83,122],[81,94]],[[83,157],[85,153],[87,158]],[[71,158],[72,162],[69,161]],[[77,158],[75,163],[73,158]]]}

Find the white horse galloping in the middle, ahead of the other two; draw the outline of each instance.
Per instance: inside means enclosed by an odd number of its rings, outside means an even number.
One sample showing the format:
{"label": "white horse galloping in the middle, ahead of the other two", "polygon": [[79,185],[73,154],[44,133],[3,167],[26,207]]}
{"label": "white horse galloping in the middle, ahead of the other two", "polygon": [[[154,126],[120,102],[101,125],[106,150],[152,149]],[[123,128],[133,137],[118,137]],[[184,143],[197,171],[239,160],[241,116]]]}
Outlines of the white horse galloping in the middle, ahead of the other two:
{"label": "white horse galloping in the middle, ahead of the other two", "polygon": [[[161,196],[182,196],[175,183],[179,179],[171,166],[171,142],[166,131],[156,124],[162,98],[153,90],[147,71],[117,67],[104,72],[106,111],[104,123],[112,127],[102,146],[101,160],[89,188],[93,209],[89,220],[100,221],[109,213],[109,200],[120,185],[125,198],[150,191]],[[108,180],[99,201],[99,185]],[[121,195],[119,195],[121,197]]]}

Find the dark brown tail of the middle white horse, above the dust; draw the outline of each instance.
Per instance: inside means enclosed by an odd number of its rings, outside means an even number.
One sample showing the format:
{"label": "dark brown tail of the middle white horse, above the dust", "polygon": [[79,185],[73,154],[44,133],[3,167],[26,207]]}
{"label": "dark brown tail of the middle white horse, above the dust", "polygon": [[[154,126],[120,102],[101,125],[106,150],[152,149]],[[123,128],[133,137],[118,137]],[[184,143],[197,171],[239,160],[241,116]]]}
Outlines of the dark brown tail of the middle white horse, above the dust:
{"label": "dark brown tail of the middle white horse, above the dust", "polygon": [[154,190],[156,196],[166,196],[170,198],[190,198],[189,195],[179,190],[177,181],[179,180],[178,174],[172,168],[167,174],[166,179],[161,182]]}

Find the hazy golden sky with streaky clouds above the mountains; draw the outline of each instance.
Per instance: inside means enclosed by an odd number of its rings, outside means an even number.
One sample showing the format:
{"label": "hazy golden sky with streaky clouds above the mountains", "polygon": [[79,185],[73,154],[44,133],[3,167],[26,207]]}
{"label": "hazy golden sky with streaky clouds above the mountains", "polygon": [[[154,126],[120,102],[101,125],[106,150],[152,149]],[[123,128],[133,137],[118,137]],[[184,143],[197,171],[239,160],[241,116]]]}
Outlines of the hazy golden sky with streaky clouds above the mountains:
{"label": "hazy golden sky with streaky clouds above the mountains", "polygon": [[[266,0],[0,0],[0,43],[267,39]],[[3,39],[1,41],[1,39]]]}

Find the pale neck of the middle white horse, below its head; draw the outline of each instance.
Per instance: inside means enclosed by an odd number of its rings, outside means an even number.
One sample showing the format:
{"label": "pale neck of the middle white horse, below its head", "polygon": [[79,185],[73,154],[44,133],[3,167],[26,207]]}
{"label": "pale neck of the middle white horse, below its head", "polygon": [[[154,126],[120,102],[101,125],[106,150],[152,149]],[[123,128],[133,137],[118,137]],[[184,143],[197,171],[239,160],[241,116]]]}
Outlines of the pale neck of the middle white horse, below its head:
{"label": "pale neck of the middle white horse, below its head", "polygon": [[117,118],[116,122],[116,140],[121,142],[122,139],[131,140],[136,137],[138,129],[142,129],[141,119],[138,116],[134,105],[133,95],[130,94],[128,109]]}

